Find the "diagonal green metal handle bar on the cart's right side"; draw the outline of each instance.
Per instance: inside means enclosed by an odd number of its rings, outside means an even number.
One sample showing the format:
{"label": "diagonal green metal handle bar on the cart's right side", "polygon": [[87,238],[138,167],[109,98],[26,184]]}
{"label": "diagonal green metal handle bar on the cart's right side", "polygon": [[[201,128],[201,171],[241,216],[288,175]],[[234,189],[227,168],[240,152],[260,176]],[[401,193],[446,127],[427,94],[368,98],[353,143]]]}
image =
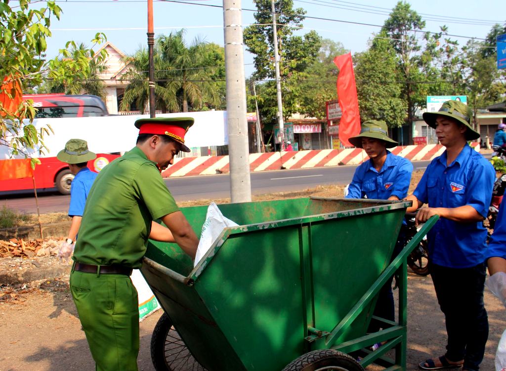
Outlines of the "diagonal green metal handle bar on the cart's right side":
{"label": "diagonal green metal handle bar on the cart's right side", "polygon": [[429,230],[436,224],[439,219],[439,215],[432,216],[420,230],[411,238],[408,244],[402,249],[399,255],[390,263],[385,271],[376,279],[376,281],[369,287],[369,290],[357,301],[357,304],[348,312],[348,314],[334,327],[332,332],[326,337],[325,344],[330,344],[334,339],[338,339],[346,328],[358,317],[358,315],[364,310],[365,306],[377,295],[379,290],[387,282],[387,280],[395,274],[397,269],[406,261],[406,258],[414,250],[414,248],[420,243],[424,236]]}

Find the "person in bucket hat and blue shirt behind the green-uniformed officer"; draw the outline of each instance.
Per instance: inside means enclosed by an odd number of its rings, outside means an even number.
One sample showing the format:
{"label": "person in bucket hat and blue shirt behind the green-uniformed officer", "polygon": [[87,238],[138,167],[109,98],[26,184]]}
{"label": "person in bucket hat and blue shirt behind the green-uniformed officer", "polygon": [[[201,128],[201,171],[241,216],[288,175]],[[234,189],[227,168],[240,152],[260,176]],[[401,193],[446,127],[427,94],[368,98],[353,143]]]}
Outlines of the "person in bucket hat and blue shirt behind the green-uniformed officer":
{"label": "person in bucket hat and blue shirt behind the green-uniformed officer", "polygon": [[[68,163],[70,172],[74,175],[72,187],[70,188],[70,206],[68,216],[72,218],[70,230],[65,242],[71,245],[77,236],[81,225],[82,213],[85,212],[85,202],[88,193],[97,177],[97,173],[88,169],[87,162],[93,160],[97,155],[88,150],[88,143],[82,139],[70,139],[65,148],[56,155],[60,161]],[[71,249],[66,250],[67,254]],[[65,256],[68,258],[68,256]]]}

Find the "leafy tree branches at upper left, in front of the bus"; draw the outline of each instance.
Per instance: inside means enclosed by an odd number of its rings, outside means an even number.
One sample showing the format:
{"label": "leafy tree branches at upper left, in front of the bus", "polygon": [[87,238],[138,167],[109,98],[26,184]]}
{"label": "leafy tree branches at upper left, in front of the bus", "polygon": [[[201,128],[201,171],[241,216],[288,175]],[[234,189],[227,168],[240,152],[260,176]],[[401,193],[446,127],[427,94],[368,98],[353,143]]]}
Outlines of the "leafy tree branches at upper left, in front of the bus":
{"label": "leafy tree branches at upper left, in front of the bus", "polygon": [[[11,99],[19,99],[22,93],[20,89],[9,88],[10,84],[38,86],[45,76],[61,83],[73,83],[90,73],[89,56],[98,62],[105,57],[105,53],[95,55],[92,50],[79,50],[74,42],[68,42],[59,56],[47,60],[44,53],[46,38],[51,36],[51,19],[60,18],[61,8],[53,0],[47,1],[45,8],[31,8],[30,0],[21,0],[15,7],[9,6],[9,0],[0,3],[0,78],[4,79],[0,93]],[[100,44],[104,39],[104,34],[97,33],[92,44]],[[14,155],[28,156],[27,149],[37,146],[44,152],[43,137],[49,134],[50,128],[37,132],[31,123],[34,116],[30,101],[21,101],[14,110],[0,105],[0,144],[10,147]],[[29,123],[23,123],[25,118]],[[37,161],[32,159],[32,166]]]}

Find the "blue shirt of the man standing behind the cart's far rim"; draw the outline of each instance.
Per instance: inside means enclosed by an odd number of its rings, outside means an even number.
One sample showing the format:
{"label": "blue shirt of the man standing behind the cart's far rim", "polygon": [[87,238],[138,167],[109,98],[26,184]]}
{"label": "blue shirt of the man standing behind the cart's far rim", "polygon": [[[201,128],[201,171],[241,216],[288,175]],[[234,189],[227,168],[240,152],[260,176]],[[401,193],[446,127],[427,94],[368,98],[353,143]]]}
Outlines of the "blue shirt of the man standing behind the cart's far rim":
{"label": "blue shirt of the man standing behind the cart's far rim", "polygon": [[388,199],[406,197],[411,181],[413,165],[409,160],[396,156],[387,150],[387,159],[379,172],[374,169],[372,160],[363,162],[353,175],[346,198]]}

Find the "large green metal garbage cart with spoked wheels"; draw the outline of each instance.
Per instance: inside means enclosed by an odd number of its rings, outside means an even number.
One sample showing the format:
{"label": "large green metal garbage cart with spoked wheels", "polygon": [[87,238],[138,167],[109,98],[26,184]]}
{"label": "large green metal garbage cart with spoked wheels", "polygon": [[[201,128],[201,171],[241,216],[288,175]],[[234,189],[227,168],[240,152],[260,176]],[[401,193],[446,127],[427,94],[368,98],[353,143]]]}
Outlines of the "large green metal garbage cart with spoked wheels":
{"label": "large green metal garbage cart with spoked wheels", "polygon": [[[320,197],[222,204],[239,226],[225,229],[195,268],[176,244],[150,243],[142,273],[165,311],[152,336],[155,368],[404,370],[406,257],[437,220],[390,263],[410,204]],[[206,211],[182,209],[197,234]],[[396,271],[398,322],[376,318],[383,329],[368,334],[377,293]],[[370,350],[379,342],[386,344]]]}

